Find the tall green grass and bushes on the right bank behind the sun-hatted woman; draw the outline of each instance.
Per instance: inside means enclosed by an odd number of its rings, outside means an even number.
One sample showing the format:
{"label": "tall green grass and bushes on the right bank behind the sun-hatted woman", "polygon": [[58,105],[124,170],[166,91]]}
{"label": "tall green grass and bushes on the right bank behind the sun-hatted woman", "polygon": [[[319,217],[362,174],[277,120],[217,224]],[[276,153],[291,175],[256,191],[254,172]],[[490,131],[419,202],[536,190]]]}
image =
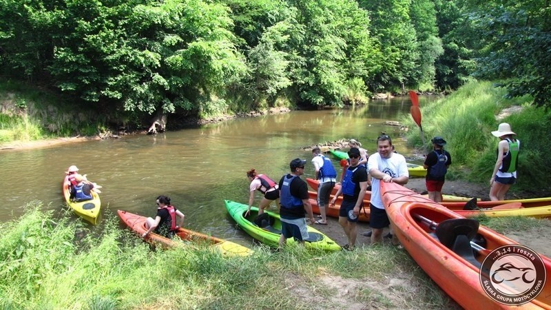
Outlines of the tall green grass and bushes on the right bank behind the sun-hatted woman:
{"label": "tall green grass and bushes on the right bank behind the sun-hatted woman", "polygon": [[[488,183],[495,165],[498,138],[491,132],[499,123],[510,123],[521,141],[519,180],[511,192],[551,194],[550,183],[551,128],[547,125],[551,111],[534,107],[532,98],[504,99],[506,91],[491,82],[471,82],[446,98],[422,106],[422,126],[426,136],[425,149],[430,149],[430,138],[443,136],[446,149],[453,157],[448,177],[464,178]],[[497,116],[510,107],[510,115]],[[410,127],[407,134],[410,145],[422,146],[419,128],[411,116],[404,117]]]}

